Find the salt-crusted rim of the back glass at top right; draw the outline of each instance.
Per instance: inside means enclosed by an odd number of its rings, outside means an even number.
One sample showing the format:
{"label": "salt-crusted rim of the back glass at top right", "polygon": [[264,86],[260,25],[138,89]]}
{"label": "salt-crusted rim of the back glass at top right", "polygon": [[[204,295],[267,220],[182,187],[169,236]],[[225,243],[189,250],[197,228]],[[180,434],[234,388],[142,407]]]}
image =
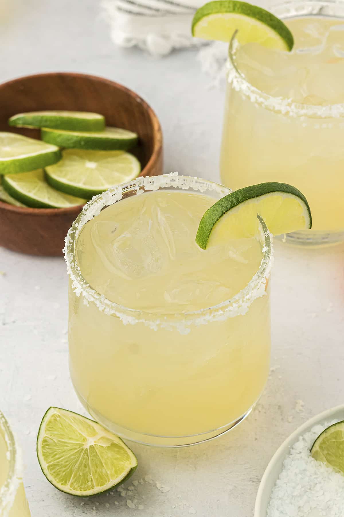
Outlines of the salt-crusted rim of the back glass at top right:
{"label": "salt-crusted rim of the back glass at top right", "polygon": [[[321,10],[327,8],[330,12],[323,13]],[[340,10],[342,16],[336,14],[335,11]],[[288,18],[296,18],[302,16],[321,16],[329,18],[343,19],[344,23],[344,3],[331,2],[326,0],[315,0],[310,2],[285,2],[283,4],[272,7],[271,11],[275,16],[282,20]],[[344,103],[327,104],[325,106],[300,104],[293,102],[291,99],[285,97],[273,97],[266,94],[253,86],[240,72],[236,64],[236,52],[239,43],[236,39],[236,32],[234,33],[230,47],[228,49],[227,59],[227,81],[231,86],[244,97],[248,97],[251,102],[260,105],[261,107],[289,115],[292,117],[308,117],[308,118],[340,118],[344,117]]]}

